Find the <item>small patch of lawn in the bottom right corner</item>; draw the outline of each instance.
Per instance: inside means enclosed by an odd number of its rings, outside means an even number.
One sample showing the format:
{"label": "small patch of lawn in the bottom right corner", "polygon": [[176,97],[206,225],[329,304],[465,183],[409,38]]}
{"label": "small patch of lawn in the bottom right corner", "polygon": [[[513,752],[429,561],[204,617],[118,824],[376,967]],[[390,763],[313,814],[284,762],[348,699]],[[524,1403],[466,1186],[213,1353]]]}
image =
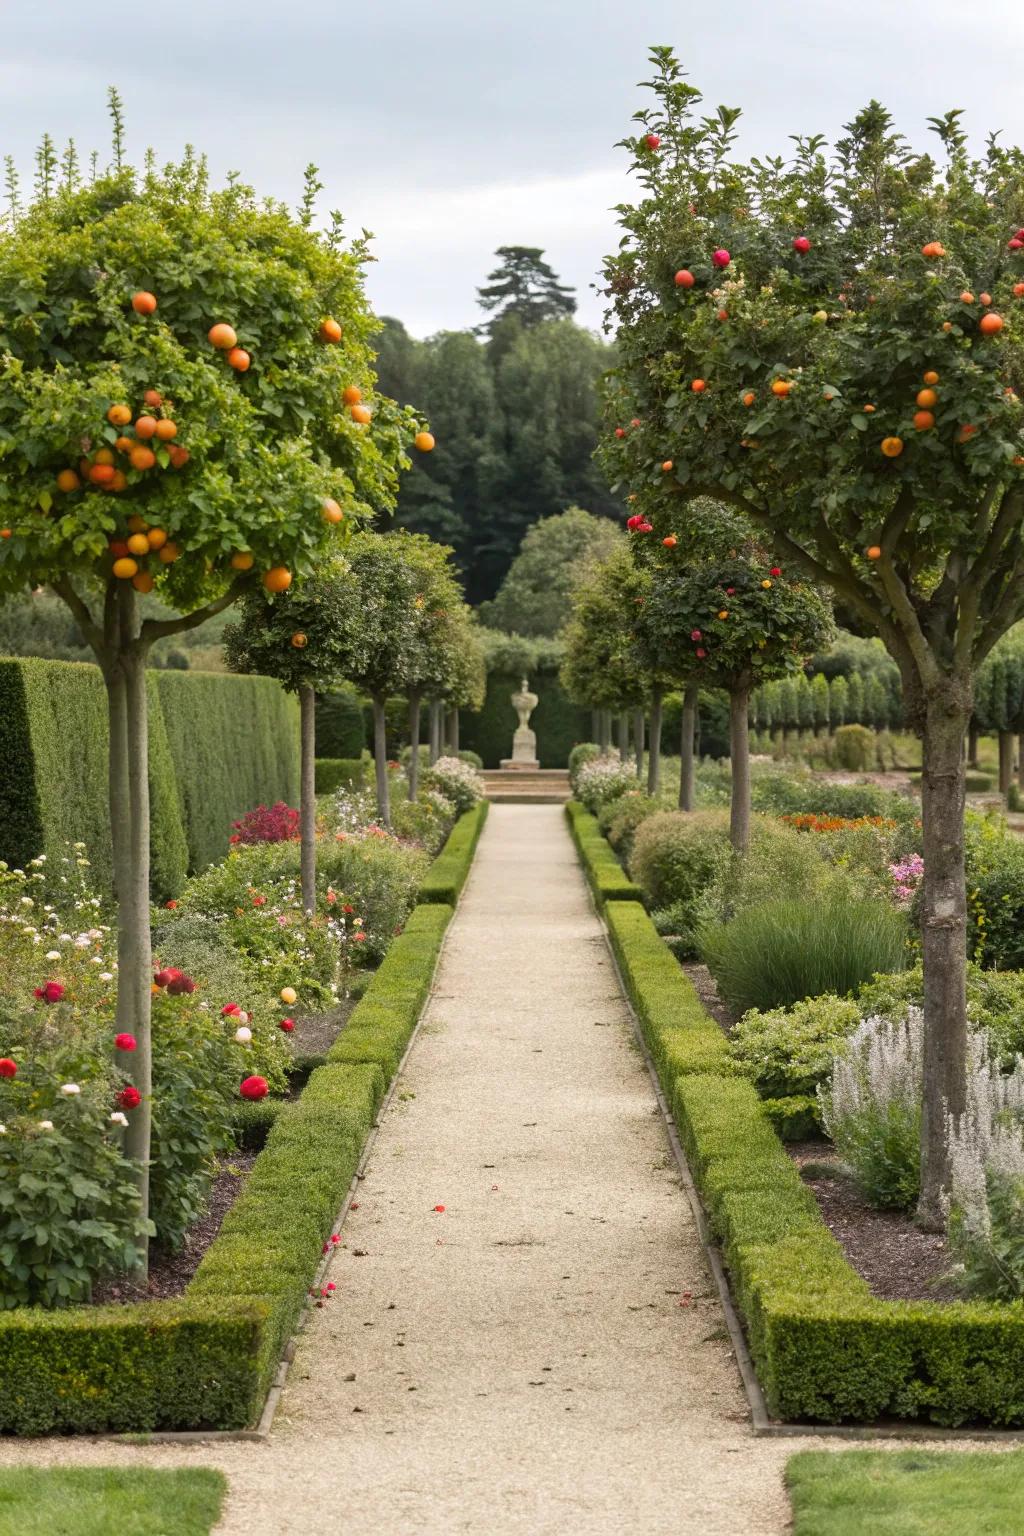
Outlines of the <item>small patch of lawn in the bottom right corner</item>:
{"label": "small patch of lawn in the bottom right corner", "polygon": [[800,1452],[792,1536],[1022,1536],[1024,1452]]}

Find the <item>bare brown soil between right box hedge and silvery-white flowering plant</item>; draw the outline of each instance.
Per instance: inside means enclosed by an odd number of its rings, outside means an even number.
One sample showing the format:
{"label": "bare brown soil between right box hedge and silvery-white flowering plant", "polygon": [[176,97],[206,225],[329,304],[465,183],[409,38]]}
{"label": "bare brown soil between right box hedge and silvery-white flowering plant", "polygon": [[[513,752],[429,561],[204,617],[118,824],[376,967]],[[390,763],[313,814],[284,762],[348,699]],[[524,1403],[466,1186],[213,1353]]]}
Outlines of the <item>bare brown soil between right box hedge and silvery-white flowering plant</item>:
{"label": "bare brown soil between right box hedge and silvery-white flowering plant", "polygon": [[792,1141],[786,1150],[811,1177],[804,1183],[846,1258],[880,1301],[955,1301],[960,1295],[946,1276],[950,1256],[946,1240],[921,1232],[901,1210],[875,1210],[860,1195],[829,1141]]}

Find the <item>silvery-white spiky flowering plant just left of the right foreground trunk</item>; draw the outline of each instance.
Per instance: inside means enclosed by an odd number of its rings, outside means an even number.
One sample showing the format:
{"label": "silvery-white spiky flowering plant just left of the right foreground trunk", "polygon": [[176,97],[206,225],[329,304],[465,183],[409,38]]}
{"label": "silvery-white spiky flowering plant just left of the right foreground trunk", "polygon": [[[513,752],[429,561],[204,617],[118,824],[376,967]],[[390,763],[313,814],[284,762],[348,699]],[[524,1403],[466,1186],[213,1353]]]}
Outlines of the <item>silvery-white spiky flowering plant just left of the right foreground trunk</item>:
{"label": "silvery-white spiky flowering plant just left of the right foreground trunk", "polygon": [[818,1087],[821,1124],[864,1198],[910,1209],[921,1184],[921,1061],[924,1015],[861,1020]]}

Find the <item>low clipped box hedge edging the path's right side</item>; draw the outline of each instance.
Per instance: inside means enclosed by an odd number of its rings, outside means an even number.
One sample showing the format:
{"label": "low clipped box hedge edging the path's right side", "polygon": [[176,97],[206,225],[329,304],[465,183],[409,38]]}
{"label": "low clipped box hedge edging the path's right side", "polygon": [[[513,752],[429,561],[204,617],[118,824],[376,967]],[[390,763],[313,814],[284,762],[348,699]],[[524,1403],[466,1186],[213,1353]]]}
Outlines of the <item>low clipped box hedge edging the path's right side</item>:
{"label": "low clipped box hedge edging the path's right side", "polygon": [[872,1296],[645,909],[611,902],[605,922],[771,1415],[1022,1425],[1024,1303]]}

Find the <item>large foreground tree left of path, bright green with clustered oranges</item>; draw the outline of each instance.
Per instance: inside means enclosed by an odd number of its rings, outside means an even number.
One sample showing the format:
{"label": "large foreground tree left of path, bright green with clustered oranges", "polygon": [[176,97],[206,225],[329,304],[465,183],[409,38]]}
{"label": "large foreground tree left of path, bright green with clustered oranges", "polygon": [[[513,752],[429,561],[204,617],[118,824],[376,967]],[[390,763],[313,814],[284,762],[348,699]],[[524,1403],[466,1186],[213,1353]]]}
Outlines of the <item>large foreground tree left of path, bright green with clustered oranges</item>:
{"label": "large foreground tree left of path, bright green with clustered oranges", "polygon": [[[287,591],[393,504],[419,422],[375,396],[365,250],[187,152],[81,186],[40,155],[0,233],[0,591],[51,587],[103,671],[118,899],[117,1028],[137,1038],[126,1149],[147,1209],[146,659],[250,587]],[[427,438],[419,438],[427,447]],[[180,611],[141,621],[155,590]],[[210,720],[210,730],[216,722]],[[226,748],[227,750],[227,748]]]}

